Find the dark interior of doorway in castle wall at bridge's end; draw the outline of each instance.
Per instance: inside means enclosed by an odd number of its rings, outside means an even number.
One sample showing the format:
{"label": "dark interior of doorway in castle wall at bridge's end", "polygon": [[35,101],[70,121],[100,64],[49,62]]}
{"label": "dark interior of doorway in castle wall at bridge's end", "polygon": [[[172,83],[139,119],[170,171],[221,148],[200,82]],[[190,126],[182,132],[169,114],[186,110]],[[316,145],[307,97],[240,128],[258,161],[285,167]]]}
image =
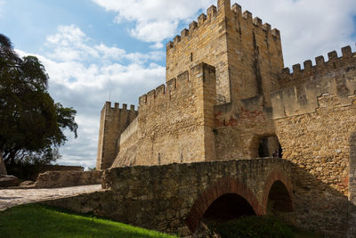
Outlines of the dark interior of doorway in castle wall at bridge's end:
{"label": "dark interior of doorway in castle wall at bridge's end", "polygon": [[279,139],[276,135],[263,136],[258,146],[258,156],[265,157],[278,157],[282,158],[282,147],[279,144]]}

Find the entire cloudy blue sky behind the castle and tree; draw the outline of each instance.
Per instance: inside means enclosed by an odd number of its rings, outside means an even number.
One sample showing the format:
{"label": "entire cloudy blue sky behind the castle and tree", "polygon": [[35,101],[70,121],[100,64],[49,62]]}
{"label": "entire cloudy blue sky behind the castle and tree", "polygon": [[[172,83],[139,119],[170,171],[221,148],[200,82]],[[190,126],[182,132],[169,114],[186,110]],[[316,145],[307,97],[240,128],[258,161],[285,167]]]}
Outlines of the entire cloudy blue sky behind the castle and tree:
{"label": "entire cloudy blue sky behind the castle and tree", "polygon": [[[231,0],[281,31],[285,65],[356,43],[355,0]],[[36,55],[56,102],[77,109],[65,165],[94,167],[105,101],[138,104],[164,83],[166,42],[215,0],[0,0],[0,33]],[[328,59],[326,57],[326,59]]]}

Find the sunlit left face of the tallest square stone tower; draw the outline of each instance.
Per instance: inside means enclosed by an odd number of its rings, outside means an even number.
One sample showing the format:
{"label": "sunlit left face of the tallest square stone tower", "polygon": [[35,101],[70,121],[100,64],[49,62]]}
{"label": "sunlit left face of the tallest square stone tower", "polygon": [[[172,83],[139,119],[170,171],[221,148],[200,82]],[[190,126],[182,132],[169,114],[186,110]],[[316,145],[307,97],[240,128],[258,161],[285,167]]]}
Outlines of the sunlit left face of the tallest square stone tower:
{"label": "sunlit left face of the tallest square stone tower", "polygon": [[[181,36],[166,46],[166,81],[185,70],[206,62],[216,69],[216,94],[220,100],[231,101],[228,56],[226,54],[226,25],[224,9],[218,1],[218,9],[213,5],[192,21],[189,29],[183,29]],[[229,6],[230,8],[230,6]]]}

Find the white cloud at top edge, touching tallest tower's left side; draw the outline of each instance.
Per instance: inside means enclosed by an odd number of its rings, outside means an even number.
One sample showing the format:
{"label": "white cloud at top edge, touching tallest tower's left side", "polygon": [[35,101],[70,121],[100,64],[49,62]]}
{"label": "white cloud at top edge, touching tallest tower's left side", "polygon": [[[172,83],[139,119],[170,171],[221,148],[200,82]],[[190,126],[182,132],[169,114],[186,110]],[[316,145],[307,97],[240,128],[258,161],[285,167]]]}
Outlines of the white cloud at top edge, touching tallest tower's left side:
{"label": "white cloud at top edge, touching tallest tower's left side", "polygon": [[153,42],[153,48],[161,48],[161,41],[174,37],[179,22],[190,20],[199,9],[206,9],[214,0],[93,0],[106,11],[117,12],[115,21],[134,21],[131,36],[144,42]]}

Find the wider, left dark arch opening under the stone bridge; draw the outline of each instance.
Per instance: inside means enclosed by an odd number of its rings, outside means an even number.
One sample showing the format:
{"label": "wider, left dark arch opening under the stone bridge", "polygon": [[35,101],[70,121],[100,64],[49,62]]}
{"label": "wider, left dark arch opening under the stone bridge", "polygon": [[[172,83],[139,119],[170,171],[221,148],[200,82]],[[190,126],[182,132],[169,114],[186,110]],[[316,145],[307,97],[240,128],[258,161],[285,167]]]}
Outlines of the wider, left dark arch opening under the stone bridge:
{"label": "wider, left dark arch opening under the stone bridge", "polygon": [[255,216],[255,210],[246,199],[236,193],[226,193],[206,209],[204,220],[221,222],[242,216]]}

